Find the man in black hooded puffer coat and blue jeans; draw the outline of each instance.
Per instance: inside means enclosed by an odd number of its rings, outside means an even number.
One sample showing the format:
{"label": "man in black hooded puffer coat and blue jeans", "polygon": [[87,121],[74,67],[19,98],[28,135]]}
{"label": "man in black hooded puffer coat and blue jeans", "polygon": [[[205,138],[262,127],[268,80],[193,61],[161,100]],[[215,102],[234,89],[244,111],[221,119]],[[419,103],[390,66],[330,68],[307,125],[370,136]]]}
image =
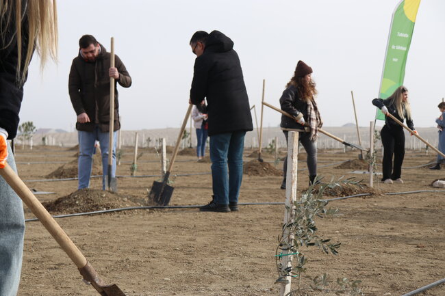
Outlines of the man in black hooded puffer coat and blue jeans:
{"label": "man in black hooded puffer coat and blue jeans", "polygon": [[238,211],[244,135],[253,130],[240,59],[233,41],[220,31],[197,31],[190,46],[197,56],[190,101],[201,105],[207,99],[212,160],[214,196],[200,211]]}

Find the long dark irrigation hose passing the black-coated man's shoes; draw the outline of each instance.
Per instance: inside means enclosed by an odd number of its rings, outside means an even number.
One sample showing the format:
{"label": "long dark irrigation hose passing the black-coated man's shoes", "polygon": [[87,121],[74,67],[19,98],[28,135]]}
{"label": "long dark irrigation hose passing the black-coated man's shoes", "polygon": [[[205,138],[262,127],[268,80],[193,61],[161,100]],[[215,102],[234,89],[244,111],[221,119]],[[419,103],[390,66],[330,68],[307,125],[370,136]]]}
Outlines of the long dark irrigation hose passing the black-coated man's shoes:
{"label": "long dark irrigation hose passing the black-coated man's shoes", "polygon": [[[394,194],[407,194],[407,193],[422,193],[422,192],[445,192],[445,190],[419,190],[419,191],[407,191],[407,192],[392,192],[392,193],[384,193],[387,195],[394,195]],[[341,198],[330,198],[328,200],[320,200],[322,202],[333,202],[335,200],[346,200],[348,198],[358,198],[361,196],[372,196],[372,193],[359,193],[354,194],[353,196],[343,196]],[[238,206],[261,206],[261,205],[268,205],[268,206],[275,206],[275,205],[282,205],[285,204],[284,202],[240,202],[238,203]],[[102,210],[102,211],[93,211],[93,212],[85,212],[85,213],[75,213],[75,214],[66,214],[66,215],[55,215],[53,218],[64,218],[64,217],[75,217],[75,216],[84,216],[84,215],[95,215],[95,214],[103,214],[103,213],[112,213],[112,212],[120,212],[120,211],[129,211],[129,210],[149,210],[149,209],[170,209],[170,208],[199,208],[203,206],[202,204],[195,204],[195,205],[184,205],[184,206],[129,206],[126,208],[111,208],[109,210]],[[33,219],[25,219],[25,222],[29,221],[38,221],[37,218]]]}

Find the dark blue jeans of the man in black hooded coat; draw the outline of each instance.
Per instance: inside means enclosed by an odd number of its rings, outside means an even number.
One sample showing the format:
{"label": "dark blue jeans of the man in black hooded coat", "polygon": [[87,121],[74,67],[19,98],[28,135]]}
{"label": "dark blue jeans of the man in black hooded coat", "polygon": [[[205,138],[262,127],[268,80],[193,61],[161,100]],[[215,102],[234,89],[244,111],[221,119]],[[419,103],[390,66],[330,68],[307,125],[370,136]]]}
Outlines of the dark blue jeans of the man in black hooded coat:
{"label": "dark blue jeans of the man in black hooded coat", "polygon": [[[238,202],[245,131],[210,136],[214,203]],[[228,169],[228,172],[227,172]]]}

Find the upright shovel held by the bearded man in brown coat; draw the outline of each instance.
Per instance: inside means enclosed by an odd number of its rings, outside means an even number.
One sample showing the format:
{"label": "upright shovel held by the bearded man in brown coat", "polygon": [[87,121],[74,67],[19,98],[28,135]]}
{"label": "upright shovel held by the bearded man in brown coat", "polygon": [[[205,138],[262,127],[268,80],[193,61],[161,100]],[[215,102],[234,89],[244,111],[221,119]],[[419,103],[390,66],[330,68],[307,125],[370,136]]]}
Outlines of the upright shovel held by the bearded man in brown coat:
{"label": "upright shovel held by the bearded man in brown coat", "polygon": [[[110,68],[114,67],[114,37],[111,40]],[[105,187],[112,192],[118,191],[116,177],[112,176],[113,167],[113,134],[114,134],[114,77],[110,77],[110,138],[108,141],[108,174],[105,176]]]}

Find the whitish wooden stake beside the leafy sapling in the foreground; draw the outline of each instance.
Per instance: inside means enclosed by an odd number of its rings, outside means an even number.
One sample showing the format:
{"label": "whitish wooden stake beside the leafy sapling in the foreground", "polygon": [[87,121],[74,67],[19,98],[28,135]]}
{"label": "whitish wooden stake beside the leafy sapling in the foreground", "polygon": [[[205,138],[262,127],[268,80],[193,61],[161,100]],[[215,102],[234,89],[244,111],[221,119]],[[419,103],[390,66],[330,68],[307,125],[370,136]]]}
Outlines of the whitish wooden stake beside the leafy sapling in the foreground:
{"label": "whitish wooden stake beside the leafy sapling in the foreground", "polygon": [[[288,135],[288,171],[286,172],[286,200],[284,209],[283,223],[286,225],[292,224],[295,219],[295,202],[297,193],[297,169],[298,169],[298,133],[290,131]],[[294,235],[290,233],[289,228],[286,227],[283,231],[283,243],[291,245],[294,240]],[[281,256],[281,268],[282,271],[292,266],[292,257],[294,255],[286,256],[289,254],[289,250],[283,250]],[[280,296],[288,295],[290,292],[290,284],[292,277],[285,277],[285,282],[281,284]]]}

